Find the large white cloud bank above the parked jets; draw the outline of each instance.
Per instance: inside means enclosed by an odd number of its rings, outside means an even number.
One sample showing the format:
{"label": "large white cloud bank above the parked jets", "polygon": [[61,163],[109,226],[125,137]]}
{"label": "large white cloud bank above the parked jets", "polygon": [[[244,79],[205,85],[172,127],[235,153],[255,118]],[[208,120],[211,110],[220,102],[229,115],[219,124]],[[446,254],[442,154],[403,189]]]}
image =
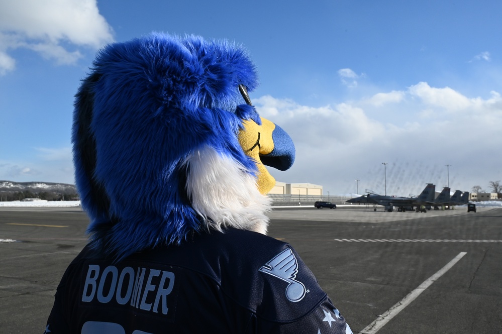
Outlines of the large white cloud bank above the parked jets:
{"label": "large white cloud bank above the parked jets", "polygon": [[[270,170],[279,181],[321,184],[335,194],[355,192],[354,180],[361,179],[360,189],[383,193],[384,161],[389,163],[387,193],[396,195],[419,193],[429,182],[441,189],[447,184],[446,164],[453,166],[453,189],[469,191],[475,184],[500,179],[495,154],[502,142],[498,92],[469,98],[420,82],[408,90],[322,107],[272,96],[255,100],[260,115],[282,127],[295,143],[293,167]],[[388,103],[408,121],[394,117],[398,113],[389,112]]]}

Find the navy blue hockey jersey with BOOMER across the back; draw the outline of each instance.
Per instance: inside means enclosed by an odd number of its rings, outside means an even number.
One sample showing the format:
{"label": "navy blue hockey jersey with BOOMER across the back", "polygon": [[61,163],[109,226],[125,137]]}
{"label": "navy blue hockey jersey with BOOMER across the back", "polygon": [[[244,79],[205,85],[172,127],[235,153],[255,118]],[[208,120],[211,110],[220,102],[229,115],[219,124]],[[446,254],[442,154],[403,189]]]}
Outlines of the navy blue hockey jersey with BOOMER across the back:
{"label": "navy blue hockey jersey with BOOMER across the back", "polygon": [[46,333],[352,333],[290,245],[229,229],[119,263],[86,246]]}

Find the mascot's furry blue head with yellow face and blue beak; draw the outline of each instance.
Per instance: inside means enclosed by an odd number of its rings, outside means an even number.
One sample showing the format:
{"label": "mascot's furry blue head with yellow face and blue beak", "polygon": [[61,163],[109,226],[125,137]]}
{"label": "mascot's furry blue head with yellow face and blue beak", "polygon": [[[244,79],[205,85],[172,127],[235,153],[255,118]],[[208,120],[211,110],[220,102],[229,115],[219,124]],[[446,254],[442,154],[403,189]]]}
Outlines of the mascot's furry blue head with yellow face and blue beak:
{"label": "mascot's furry blue head with yellow face and blue beak", "polygon": [[241,47],[152,34],[101,50],[75,100],[73,160],[94,247],[120,260],[189,233],[266,233],[289,136],[262,119]]}

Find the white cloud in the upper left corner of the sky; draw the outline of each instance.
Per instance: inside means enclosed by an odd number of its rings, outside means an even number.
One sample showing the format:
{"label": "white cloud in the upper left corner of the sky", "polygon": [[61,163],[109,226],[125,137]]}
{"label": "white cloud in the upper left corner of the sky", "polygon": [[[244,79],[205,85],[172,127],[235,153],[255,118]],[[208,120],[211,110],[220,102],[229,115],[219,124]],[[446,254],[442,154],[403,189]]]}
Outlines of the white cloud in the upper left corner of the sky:
{"label": "white cloud in the upper left corner of the sky", "polygon": [[28,48],[58,64],[80,58],[74,48],[99,48],[113,41],[113,31],[99,15],[96,0],[2,0],[0,74],[14,70],[9,50]]}

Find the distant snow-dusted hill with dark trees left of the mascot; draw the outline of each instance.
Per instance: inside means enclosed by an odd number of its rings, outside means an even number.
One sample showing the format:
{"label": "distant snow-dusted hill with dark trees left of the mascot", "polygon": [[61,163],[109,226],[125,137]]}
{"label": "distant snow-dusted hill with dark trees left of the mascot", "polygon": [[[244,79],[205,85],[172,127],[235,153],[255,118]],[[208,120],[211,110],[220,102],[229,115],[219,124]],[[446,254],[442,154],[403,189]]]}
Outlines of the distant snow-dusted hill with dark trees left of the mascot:
{"label": "distant snow-dusted hill with dark trees left of the mascot", "polygon": [[77,196],[77,188],[73,184],[0,180],[0,201],[23,200],[24,198],[71,200]]}

